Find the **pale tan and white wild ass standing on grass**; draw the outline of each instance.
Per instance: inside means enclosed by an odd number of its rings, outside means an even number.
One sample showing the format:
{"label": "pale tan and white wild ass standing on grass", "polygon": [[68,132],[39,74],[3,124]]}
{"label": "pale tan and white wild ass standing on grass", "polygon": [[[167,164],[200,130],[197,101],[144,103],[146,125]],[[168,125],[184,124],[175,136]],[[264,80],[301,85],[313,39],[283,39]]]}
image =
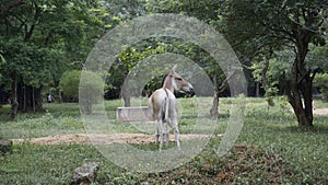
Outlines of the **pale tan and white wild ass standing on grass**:
{"label": "pale tan and white wild ass standing on grass", "polygon": [[[156,90],[149,99],[149,108],[153,114],[156,124],[155,141],[160,139],[162,150],[164,137],[168,141],[168,126],[174,129],[177,148],[180,149],[178,129],[178,107],[174,91],[194,93],[192,85],[175,72],[175,67],[165,77],[163,86]],[[163,131],[163,123],[166,123],[166,130]]]}

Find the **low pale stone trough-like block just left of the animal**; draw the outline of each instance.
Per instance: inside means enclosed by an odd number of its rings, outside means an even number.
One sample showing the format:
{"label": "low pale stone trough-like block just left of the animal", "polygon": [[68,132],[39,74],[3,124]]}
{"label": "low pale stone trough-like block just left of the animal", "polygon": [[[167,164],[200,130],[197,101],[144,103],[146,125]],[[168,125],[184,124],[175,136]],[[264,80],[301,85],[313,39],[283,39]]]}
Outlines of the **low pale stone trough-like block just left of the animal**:
{"label": "low pale stone trough-like block just left of the animal", "polygon": [[116,119],[126,122],[153,122],[147,106],[117,107]]}

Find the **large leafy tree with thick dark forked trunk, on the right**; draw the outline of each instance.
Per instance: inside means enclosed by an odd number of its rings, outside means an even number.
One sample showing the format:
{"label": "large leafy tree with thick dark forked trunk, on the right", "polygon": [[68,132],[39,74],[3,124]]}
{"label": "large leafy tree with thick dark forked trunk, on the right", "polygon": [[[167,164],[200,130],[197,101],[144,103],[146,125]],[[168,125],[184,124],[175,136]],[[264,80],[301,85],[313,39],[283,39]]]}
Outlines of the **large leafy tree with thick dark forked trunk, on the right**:
{"label": "large leafy tree with thick dark forked trunk, on the right", "polygon": [[294,49],[290,81],[283,83],[298,125],[313,126],[312,89],[317,69],[308,68],[305,59],[311,43],[325,45],[328,2],[231,0],[226,7],[229,41],[244,47],[244,54],[245,48],[257,54],[266,46]]}

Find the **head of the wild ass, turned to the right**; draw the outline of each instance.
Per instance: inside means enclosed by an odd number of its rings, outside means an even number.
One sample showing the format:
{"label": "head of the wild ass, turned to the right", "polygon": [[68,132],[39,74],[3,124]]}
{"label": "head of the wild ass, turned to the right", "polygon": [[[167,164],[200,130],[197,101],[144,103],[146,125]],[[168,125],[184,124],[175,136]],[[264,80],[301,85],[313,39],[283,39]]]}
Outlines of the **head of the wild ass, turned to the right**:
{"label": "head of the wild ass, turned to the right", "polygon": [[172,78],[172,85],[175,91],[179,91],[181,93],[187,93],[194,95],[194,86],[185,80],[180,74],[175,72],[176,66],[174,66],[168,73],[168,76]]}

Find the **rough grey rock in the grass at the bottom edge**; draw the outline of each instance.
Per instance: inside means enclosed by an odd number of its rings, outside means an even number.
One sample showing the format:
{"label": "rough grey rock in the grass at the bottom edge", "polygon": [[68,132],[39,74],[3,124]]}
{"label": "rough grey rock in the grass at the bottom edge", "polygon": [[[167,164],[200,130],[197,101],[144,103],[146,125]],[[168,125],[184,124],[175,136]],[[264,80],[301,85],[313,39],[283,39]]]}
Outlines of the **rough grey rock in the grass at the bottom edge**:
{"label": "rough grey rock in the grass at the bottom edge", "polygon": [[82,166],[77,167],[73,171],[73,177],[71,185],[79,185],[81,183],[92,183],[97,176],[97,171],[99,170],[98,162],[87,162]]}

